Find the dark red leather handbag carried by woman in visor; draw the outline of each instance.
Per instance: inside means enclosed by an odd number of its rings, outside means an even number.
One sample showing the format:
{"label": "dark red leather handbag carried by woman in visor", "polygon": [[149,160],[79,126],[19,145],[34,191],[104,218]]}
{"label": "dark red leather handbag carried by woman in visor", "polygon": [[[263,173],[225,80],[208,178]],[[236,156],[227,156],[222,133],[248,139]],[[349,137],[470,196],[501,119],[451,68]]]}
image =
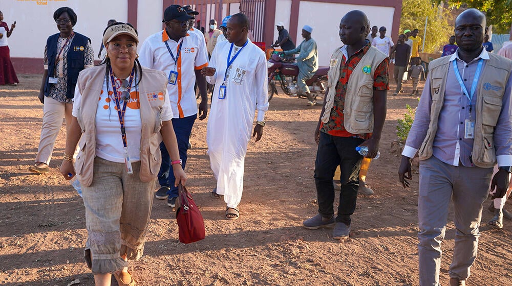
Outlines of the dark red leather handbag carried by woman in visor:
{"label": "dark red leather handbag carried by woman in visor", "polygon": [[204,239],[204,221],[196,203],[181,183],[176,199],[176,221],[180,242],[193,243]]}

